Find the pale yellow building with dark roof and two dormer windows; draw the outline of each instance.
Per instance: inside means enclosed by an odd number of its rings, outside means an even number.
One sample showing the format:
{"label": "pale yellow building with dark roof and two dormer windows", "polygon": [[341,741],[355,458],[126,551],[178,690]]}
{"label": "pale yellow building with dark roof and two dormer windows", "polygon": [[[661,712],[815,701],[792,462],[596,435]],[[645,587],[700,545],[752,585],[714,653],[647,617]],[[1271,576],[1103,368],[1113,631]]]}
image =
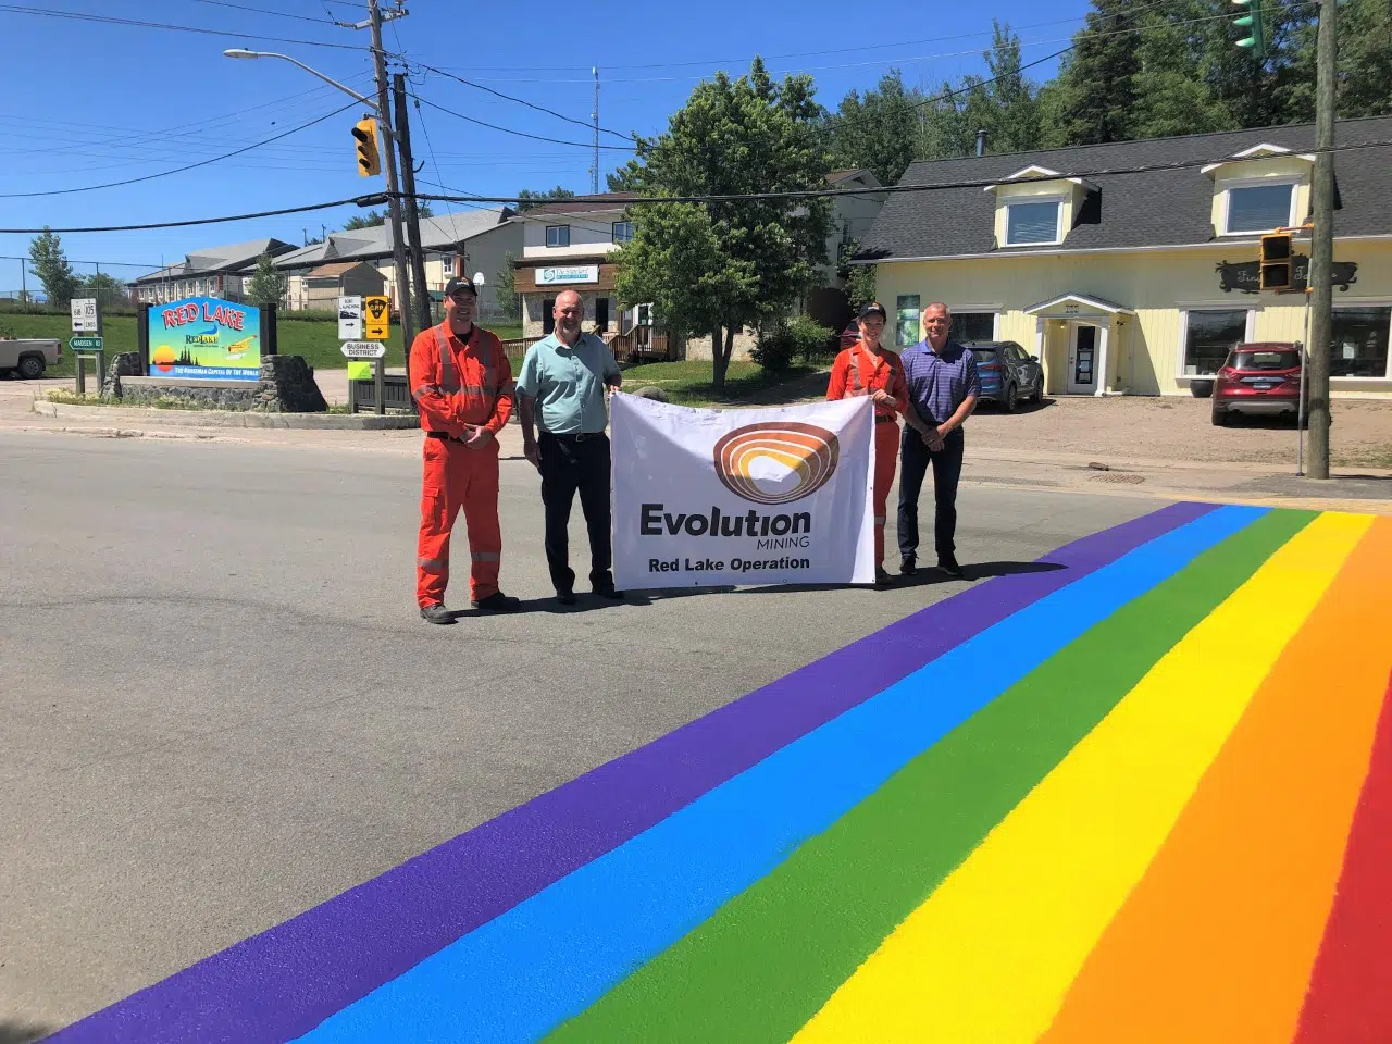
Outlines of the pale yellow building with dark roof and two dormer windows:
{"label": "pale yellow building with dark roof and two dormer windows", "polygon": [[[1392,117],[1338,124],[1392,142]],[[1310,220],[1313,125],[915,163],[869,235],[895,341],[941,301],[960,341],[1015,341],[1062,394],[1189,394],[1243,341],[1307,341],[1297,292],[1258,291],[1260,238]],[[1338,152],[1331,394],[1392,397],[1392,148]]]}

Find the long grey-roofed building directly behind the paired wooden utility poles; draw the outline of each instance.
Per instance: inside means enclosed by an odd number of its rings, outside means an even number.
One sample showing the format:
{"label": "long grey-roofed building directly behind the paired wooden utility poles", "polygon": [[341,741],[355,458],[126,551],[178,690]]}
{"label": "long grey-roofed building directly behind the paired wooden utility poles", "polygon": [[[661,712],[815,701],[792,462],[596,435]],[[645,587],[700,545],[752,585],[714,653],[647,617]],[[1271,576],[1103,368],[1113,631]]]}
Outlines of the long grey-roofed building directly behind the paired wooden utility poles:
{"label": "long grey-roofed building directly behind the paired wooden utility poles", "polygon": [[[522,253],[522,230],[509,219],[508,207],[479,207],[444,217],[420,219],[420,245],[425,249],[426,288],[438,303],[444,285],[454,276],[473,277],[482,273],[479,288],[479,319],[501,317],[497,301],[497,273],[505,256]],[[398,310],[395,263],[391,256],[391,226],[354,228],[330,232],[320,244],[310,244],[276,259],[276,267],[285,274],[285,306],[290,310],[319,308],[309,305],[305,278],[326,263],[367,262],[381,274],[384,290],[391,298],[393,312]]]}

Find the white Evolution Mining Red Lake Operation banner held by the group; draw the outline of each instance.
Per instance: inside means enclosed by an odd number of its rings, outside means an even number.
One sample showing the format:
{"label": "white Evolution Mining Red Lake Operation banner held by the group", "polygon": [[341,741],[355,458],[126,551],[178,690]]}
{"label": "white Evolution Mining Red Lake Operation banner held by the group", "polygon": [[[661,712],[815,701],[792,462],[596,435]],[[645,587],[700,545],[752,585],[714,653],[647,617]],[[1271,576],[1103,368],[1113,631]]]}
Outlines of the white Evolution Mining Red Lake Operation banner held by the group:
{"label": "white Evolution Mining Red Lake Operation banner held by the group", "polygon": [[874,582],[874,405],[692,409],[615,394],[614,582]]}

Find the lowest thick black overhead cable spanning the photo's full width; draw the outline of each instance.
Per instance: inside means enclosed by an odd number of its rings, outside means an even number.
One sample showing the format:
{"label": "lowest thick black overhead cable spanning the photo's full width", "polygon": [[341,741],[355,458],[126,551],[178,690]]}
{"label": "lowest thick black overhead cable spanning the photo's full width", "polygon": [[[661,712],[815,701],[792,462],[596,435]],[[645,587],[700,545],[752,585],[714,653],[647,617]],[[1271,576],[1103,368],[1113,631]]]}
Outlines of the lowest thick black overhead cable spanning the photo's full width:
{"label": "lowest thick black overhead cable spanning the photo's full width", "polygon": [[[1254,128],[1261,129],[1261,128]],[[1083,148],[1083,146],[1079,146]],[[1374,141],[1374,142],[1354,142],[1349,145],[1334,145],[1328,149],[1306,149],[1302,148],[1300,153],[1307,156],[1318,155],[1335,155],[1342,152],[1363,152],[1367,149],[1389,149],[1392,148],[1392,141]],[[1058,181],[1061,178],[1107,178],[1119,177],[1123,174],[1157,174],[1169,173],[1178,170],[1199,170],[1214,163],[1228,163],[1231,156],[1221,156],[1218,159],[1201,159],[1201,160],[1176,160],[1175,163],[1153,163],[1139,167],[1112,167],[1100,170],[1080,170],[1080,171],[1062,171],[1059,174],[1051,174],[1047,178],[1037,178],[1038,181]],[[1022,178],[1018,184],[1029,184],[1029,178]],[[885,185],[883,188],[874,189],[876,193],[898,195],[901,192],[938,192],[944,189],[954,188],[987,188],[990,185],[999,185],[1001,178],[981,178],[969,181],[941,181],[930,182],[924,185]],[[402,193],[397,193],[401,196]],[[817,198],[834,198],[834,196],[863,196],[866,189],[855,188],[817,188],[817,189],[800,189],[800,191],[781,191],[781,192],[743,192],[731,195],[709,195],[709,196],[638,196],[633,199],[621,200],[624,206],[646,206],[651,203],[738,203],[746,200],[764,200],[764,199],[817,199]],[[380,206],[386,203],[390,198],[387,192],[376,192],[372,195],[356,196],[352,199],[335,199],[329,203],[306,203],[303,206],[281,207],[278,210],[262,210],[252,214],[230,214],[223,217],[199,217],[185,221],[153,221],[149,224],[127,224],[127,226],[109,226],[102,228],[0,228],[0,235],[38,235],[45,231],[52,231],[57,234],[77,234],[77,232],[136,232],[146,231],[150,228],[185,228],[188,226],[196,224],[223,224],[227,221],[246,221],[256,217],[280,217],[283,214],[302,214],[312,210],[329,210],[335,206],[358,206],[370,207]],[[416,199],[423,199],[427,202],[441,202],[441,203],[511,203],[521,205],[523,202],[516,196],[479,196],[479,195],[430,195],[425,192],[416,192]],[[560,200],[564,202],[564,200]],[[586,202],[583,199],[576,199],[575,202]],[[565,217],[567,214],[555,212],[553,216]],[[583,217],[585,212],[575,214],[576,217]]]}

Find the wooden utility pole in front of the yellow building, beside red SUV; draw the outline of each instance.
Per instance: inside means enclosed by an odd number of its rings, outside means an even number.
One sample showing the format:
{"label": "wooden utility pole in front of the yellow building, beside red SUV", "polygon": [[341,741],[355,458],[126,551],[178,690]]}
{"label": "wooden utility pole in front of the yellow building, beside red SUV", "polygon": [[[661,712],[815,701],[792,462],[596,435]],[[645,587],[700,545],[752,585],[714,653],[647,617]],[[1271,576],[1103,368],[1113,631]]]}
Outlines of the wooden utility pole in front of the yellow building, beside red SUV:
{"label": "wooden utility pole in front of the yellow building, beside red SUV", "polygon": [[1334,106],[1338,0],[1320,0],[1315,43],[1314,231],[1310,235],[1310,477],[1329,477],[1329,345],[1334,340]]}

